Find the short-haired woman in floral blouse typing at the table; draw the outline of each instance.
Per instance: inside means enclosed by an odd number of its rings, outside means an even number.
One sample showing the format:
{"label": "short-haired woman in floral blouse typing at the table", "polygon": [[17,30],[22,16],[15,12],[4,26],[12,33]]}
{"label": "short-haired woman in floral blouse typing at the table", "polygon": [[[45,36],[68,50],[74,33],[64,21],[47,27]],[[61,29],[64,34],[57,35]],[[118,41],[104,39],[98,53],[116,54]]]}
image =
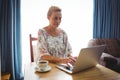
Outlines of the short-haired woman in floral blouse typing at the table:
{"label": "short-haired woman in floral blouse typing at the table", "polygon": [[74,64],[76,58],[71,56],[72,49],[67,34],[58,26],[61,23],[61,9],[51,6],[47,13],[49,25],[38,31],[38,51],[41,59],[53,63]]}

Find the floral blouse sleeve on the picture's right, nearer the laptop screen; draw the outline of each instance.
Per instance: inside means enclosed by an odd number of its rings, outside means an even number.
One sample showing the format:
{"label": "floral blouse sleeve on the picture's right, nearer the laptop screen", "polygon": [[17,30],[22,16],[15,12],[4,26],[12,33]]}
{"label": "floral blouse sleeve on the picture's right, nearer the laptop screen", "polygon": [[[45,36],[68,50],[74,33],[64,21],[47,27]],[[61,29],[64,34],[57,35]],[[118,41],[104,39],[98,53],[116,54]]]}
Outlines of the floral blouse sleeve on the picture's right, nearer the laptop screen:
{"label": "floral blouse sleeve on the picture's right, nearer the laptop screen", "polygon": [[65,53],[67,55],[71,55],[72,53],[72,47],[68,41],[68,36],[67,36],[67,33],[65,31],[63,31],[63,35],[64,35],[64,44],[65,44]]}

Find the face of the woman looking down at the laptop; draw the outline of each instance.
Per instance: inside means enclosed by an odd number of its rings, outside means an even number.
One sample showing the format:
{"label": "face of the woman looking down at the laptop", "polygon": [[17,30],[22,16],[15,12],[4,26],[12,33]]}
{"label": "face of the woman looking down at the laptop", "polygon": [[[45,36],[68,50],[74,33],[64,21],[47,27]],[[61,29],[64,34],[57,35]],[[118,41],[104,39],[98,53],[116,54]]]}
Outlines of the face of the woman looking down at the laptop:
{"label": "face of the woman looking down at the laptop", "polygon": [[52,14],[48,16],[50,26],[57,28],[61,22],[61,18],[62,18],[61,12],[52,12]]}

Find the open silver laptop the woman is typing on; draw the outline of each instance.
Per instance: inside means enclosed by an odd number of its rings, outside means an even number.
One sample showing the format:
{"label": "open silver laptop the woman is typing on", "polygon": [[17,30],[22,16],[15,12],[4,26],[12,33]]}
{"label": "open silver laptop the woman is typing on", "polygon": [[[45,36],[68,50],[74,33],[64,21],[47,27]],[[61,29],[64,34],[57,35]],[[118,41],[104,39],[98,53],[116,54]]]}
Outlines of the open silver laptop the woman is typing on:
{"label": "open silver laptop the woman is typing on", "polygon": [[94,67],[99,63],[104,49],[105,45],[82,48],[74,66],[68,67],[66,64],[57,64],[56,67],[71,74]]}

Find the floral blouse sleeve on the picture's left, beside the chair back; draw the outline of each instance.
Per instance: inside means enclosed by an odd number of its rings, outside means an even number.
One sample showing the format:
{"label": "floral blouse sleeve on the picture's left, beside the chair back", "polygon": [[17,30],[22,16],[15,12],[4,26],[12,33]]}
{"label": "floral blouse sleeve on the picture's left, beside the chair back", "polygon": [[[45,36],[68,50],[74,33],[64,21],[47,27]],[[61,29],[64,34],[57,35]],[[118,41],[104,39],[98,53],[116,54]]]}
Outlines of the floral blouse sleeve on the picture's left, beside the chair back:
{"label": "floral blouse sleeve on the picture's left, beside the chair back", "polygon": [[39,31],[38,31],[37,48],[38,48],[38,53],[40,54],[40,56],[49,54],[47,51],[47,44],[45,41],[45,37],[44,37],[43,31],[41,29],[39,29]]}

